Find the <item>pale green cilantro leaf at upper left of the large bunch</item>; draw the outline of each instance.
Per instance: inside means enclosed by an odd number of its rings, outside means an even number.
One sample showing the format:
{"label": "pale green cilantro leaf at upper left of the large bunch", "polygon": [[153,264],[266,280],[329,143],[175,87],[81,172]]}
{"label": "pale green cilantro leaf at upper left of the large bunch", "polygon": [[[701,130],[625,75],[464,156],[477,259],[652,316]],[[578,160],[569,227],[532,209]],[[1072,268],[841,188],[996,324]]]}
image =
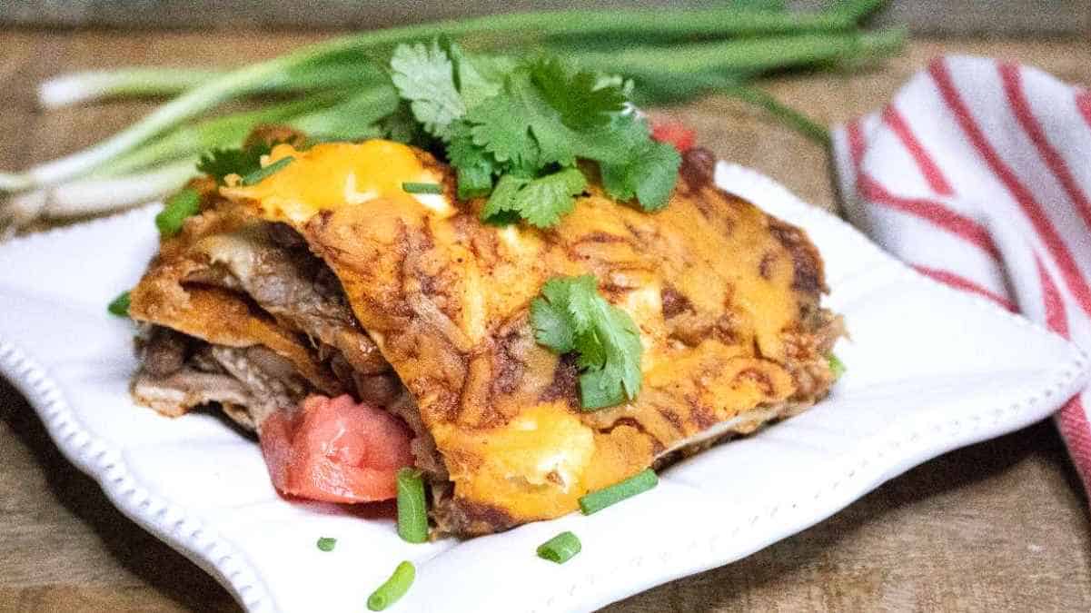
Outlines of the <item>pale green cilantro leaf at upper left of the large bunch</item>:
{"label": "pale green cilantro leaf at upper left of the large bunch", "polygon": [[455,68],[437,40],[398,45],[391,58],[391,80],[428,132],[445,139],[452,121],[466,113],[455,87]]}

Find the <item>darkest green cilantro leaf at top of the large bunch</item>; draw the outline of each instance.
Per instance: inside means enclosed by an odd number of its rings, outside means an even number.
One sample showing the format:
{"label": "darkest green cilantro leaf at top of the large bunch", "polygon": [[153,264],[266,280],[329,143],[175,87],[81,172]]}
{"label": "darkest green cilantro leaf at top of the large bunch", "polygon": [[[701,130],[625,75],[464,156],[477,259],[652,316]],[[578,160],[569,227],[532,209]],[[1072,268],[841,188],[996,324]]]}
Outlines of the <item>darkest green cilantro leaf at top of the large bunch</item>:
{"label": "darkest green cilantro leaf at top of the large bunch", "polygon": [[603,125],[610,115],[621,112],[625,94],[621,83],[600,85],[598,75],[588,70],[574,71],[560,58],[539,58],[530,65],[530,77],[547,103],[573,130]]}

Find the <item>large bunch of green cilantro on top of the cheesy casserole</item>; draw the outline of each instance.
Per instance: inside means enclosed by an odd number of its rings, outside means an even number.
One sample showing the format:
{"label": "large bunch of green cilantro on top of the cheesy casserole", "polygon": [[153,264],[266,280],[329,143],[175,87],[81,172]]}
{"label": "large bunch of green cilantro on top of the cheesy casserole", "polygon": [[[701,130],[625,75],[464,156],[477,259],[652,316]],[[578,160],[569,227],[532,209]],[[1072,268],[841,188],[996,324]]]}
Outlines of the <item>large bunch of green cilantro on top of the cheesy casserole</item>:
{"label": "large bunch of green cilantro on top of the cheesy casserole", "polygon": [[489,196],[481,218],[549,228],[575,207],[599,164],[607,193],[662,208],[681,156],[651,139],[627,106],[628,84],[553,57],[479,58],[447,41],[400,45],[391,60],[399,95],[443,143],[458,196]]}

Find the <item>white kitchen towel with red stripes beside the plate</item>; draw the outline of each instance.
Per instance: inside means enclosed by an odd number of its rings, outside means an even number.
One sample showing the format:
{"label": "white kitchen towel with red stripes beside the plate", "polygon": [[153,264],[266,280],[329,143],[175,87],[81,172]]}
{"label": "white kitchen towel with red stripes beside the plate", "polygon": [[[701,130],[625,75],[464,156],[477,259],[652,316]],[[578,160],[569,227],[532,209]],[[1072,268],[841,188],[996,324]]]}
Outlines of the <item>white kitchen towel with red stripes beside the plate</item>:
{"label": "white kitchen towel with red stripes beside the plate", "polygon": [[[1091,350],[1091,92],[939,58],[836,130],[834,155],[847,216],[884,249]],[[1091,492],[1089,406],[1054,419]]]}

